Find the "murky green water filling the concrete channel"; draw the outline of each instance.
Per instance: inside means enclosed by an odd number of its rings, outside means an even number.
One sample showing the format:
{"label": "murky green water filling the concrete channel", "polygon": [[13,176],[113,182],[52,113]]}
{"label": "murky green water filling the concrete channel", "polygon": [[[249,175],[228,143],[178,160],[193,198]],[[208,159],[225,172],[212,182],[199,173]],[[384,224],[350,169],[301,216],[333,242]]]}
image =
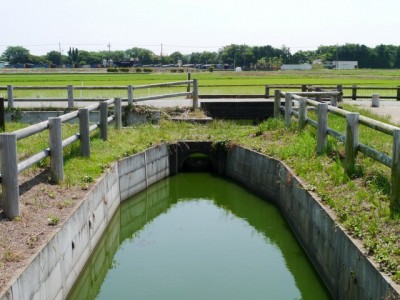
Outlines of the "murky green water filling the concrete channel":
{"label": "murky green water filling the concrete channel", "polygon": [[329,299],[274,205],[209,173],[125,201],[70,299]]}

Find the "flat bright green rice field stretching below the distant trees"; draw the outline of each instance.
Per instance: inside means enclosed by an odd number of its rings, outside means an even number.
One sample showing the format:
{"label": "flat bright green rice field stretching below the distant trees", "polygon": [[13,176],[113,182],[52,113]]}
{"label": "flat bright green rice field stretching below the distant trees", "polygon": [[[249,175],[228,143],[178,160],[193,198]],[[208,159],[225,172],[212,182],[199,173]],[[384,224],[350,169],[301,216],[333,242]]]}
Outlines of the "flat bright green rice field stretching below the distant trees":
{"label": "flat bright green rice field stretching below the distant trees", "polygon": [[[190,71],[190,70],[189,70]],[[7,85],[18,86],[59,86],[65,90],[15,90],[14,97],[66,97],[66,86],[74,87],[88,86],[110,86],[126,87],[128,85],[138,86],[156,84],[163,82],[187,80],[186,73],[169,73],[165,70],[152,73],[43,73],[43,70],[29,70],[24,73],[0,73],[0,97],[6,97]],[[191,78],[198,79],[200,95],[262,95],[265,93],[266,85],[320,85],[336,88],[338,84],[345,87],[344,95],[351,94],[350,87],[357,86],[376,87],[398,87],[400,86],[400,70],[311,70],[311,71],[272,71],[272,72],[229,72],[215,71],[199,72],[191,71]],[[348,87],[348,89],[346,89]],[[161,91],[162,90],[162,91]],[[185,91],[185,87],[166,87],[157,89],[135,90],[135,97],[146,96],[157,93],[170,93]],[[274,87],[270,95],[274,93]],[[286,88],[285,91],[299,91],[298,89]],[[396,90],[368,90],[359,91],[359,95],[370,95],[378,92],[381,96],[395,96]],[[121,97],[126,98],[126,90],[77,90],[75,98],[97,98],[97,97]]]}

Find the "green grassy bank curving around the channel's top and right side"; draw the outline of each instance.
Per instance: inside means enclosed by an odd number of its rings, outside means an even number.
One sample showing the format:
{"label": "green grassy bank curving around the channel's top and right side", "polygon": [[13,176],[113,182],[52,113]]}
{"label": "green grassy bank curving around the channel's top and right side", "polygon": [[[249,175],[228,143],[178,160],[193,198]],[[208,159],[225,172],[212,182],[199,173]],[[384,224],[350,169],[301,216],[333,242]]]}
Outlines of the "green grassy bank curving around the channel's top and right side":
{"label": "green grassy bank curving around the channel's top and right side", "polygon": [[[310,117],[315,116],[310,114]],[[343,118],[332,116],[329,126],[343,132],[344,122]],[[77,131],[73,125],[64,126],[66,136]],[[363,126],[360,132],[361,142],[391,153],[390,137]],[[163,120],[159,125],[111,130],[108,141],[101,141],[94,134],[90,158],[78,156],[77,144],[64,150],[65,181],[61,187],[86,189],[115,160],[152,145],[177,140],[219,141],[228,147],[240,144],[284,161],[306,182],[307,189],[317,193],[335,211],[338,222],[362,241],[365,252],[374,258],[381,270],[400,282],[400,241],[397,238],[400,217],[389,207],[390,169],[360,154],[356,171],[348,175],[342,163],[344,145],[329,138],[327,153],[318,156],[315,129],[307,127],[298,132],[295,122],[287,129],[281,119],[269,119],[256,126],[248,122],[213,121],[194,125]],[[22,140],[18,142],[19,154],[21,158],[27,156],[46,143],[45,134]],[[38,167],[47,165],[48,161],[43,161]]]}

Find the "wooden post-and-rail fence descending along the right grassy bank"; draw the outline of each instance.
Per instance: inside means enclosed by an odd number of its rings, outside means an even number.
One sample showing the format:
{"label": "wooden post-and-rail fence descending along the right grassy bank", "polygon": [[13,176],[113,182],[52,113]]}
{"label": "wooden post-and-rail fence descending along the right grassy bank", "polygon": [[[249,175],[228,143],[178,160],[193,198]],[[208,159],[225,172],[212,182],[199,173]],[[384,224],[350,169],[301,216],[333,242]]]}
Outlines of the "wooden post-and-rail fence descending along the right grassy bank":
{"label": "wooden post-and-rail fence descending along the right grassy bank", "polygon": [[[281,106],[281,97],[285,97],[285,106]],[[348,112],[338,107],[321,103],[316,100],[302,97],[295,93],[275,91],[274,116],[281,116],[284,111],[285,123],[291,125],[292,116],[297,117],[299,129],[302,130],[309,124],[317,129],[317,153],[326,151],[327,136],[330,135],[345,144],[345,168],[347,172],[354,170],[357,152],[372,158],[373,160],[391,168],[391,195],[392,208],[400,207],[400,128],[377,120],[362,116],[358,113]],[[298,111],[292,109],[293,100],[298,101]],[[317,121],[307,117],[307,106],[317,108]],[[341,133],[328,127],[328,113],[346,119],[346,132]],[[359,142],[359,125],[365,125],[373,130],[387,134],[393,138],[392,155],[389,156],[374,148]]]}

